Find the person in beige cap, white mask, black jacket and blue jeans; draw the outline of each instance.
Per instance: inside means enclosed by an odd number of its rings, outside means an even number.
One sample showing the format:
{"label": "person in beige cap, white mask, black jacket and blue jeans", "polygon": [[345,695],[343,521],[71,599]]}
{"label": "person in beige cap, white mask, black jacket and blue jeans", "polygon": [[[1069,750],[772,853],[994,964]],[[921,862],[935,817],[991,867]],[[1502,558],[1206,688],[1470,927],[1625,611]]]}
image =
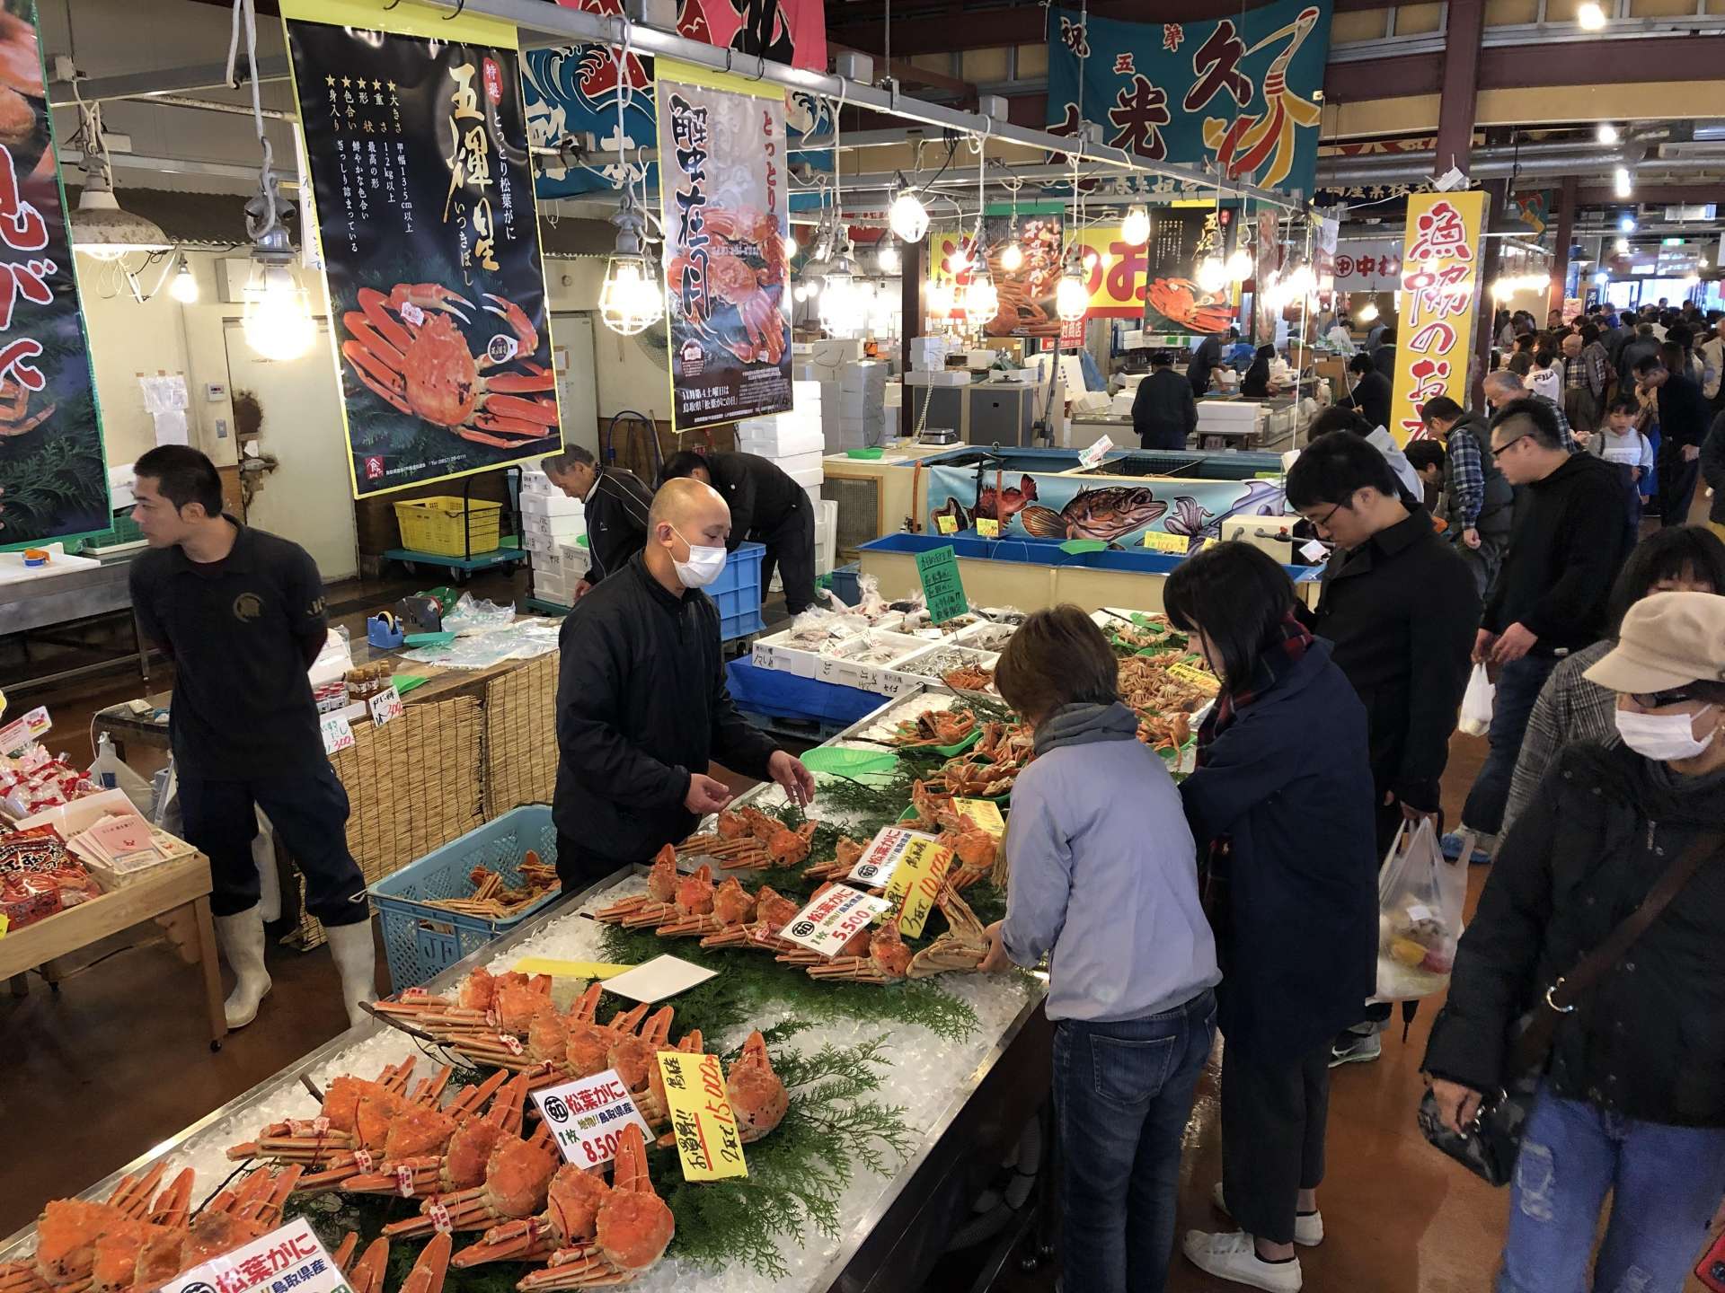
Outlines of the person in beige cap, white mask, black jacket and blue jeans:
{"label": "person in beige cap, white mask, black jacket and blue jeans", "polygon": [[1504,836],[1425,1069],[1466,1129],[1480,1093],[1518,1078],[1511,1026],[1677,884],[1556,1019],[1496,1288],[1678,1293],[1709,1219],[1725,1224],[1725,597],[1637,602],[1587,678],[1616,693],[1623,745],[1566,746]]}

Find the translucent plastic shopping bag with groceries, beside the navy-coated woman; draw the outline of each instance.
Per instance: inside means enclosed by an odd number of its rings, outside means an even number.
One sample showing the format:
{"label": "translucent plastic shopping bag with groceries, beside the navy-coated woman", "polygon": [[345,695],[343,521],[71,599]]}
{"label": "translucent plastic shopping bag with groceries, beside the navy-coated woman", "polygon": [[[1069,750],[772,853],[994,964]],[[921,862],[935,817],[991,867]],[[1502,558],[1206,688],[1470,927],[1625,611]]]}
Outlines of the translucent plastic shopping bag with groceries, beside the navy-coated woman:
{"label": "translucent plastic shopping bag with groceries, beside the navy-coated woman", "polygon": [[1411,1002],[1449,984],[1468,869],[1444,859],[1427,817],[1404,822],[1378,872],[1378,1002]]}

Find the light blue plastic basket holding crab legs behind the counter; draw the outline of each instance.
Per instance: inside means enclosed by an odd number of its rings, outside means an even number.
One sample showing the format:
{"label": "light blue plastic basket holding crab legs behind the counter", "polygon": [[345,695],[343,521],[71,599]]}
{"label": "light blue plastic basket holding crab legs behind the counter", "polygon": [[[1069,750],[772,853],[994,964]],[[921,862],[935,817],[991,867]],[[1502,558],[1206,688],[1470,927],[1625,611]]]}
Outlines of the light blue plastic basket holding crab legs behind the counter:
{"label": "light blue plastic basket holding crab legs behind the counter", "polygon": [[511,809],[371,886],[373,902],[383,917],[383,950],[390,959],[395,991],[417,988],[499,934],[509,933],[557,896],[554,890],[507,921],[424,905],[426,898],[471,895],[473,881],[467,872],[478,865],[490,867],[511,884],[521,883],[521,862],[530,848],[547,865],[557,860],[557,828],[543,803]]}

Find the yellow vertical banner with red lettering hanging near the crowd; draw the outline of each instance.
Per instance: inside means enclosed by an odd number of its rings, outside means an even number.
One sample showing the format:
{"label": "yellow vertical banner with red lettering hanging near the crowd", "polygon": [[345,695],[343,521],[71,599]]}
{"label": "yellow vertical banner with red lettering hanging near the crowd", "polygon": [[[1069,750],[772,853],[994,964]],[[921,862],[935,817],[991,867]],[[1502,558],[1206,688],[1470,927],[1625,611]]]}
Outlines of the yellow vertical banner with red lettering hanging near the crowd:
{"label": "yellow vertical banner with red lettering hanging near the crowd", "polygon": [[1484,228],[1484,191],[1408,198],[1389,426],[1397,445],[1427,434],[1420,419],[1427,400],[1468,402]]}

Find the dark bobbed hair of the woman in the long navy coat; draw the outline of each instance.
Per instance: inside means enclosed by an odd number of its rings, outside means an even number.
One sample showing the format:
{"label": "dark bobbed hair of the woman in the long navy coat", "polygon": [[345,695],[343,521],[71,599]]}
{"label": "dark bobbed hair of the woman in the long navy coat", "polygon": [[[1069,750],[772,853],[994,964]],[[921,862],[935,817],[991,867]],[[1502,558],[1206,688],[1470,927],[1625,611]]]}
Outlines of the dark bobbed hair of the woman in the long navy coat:
{"label": "dark bobbed hair of the woman in the long navy coat", "polygon": [[1240,691],[1294,612],[1294,581],[1251,543],[1208,543],[1168,576],[1163,610],[1176,629],[1201,629],[1214,643],[1221,659],[1211,665],[1230,691]]}

